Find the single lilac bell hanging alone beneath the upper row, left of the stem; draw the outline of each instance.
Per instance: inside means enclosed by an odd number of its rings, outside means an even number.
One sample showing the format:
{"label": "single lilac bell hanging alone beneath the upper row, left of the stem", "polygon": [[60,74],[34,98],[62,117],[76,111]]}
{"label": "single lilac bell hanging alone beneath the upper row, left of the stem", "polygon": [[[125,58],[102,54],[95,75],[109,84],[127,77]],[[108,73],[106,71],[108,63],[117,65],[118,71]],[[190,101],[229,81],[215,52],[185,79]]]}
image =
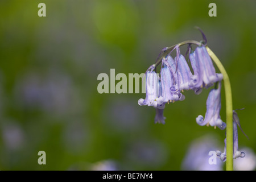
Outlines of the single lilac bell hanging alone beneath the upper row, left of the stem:
{"label": "single lilac bell hanging alone beneath the upper row, left of the stem", "polygon": [[196,118],[197,124],[200,126],[210,125],[214,127],[219,127],[224,130],[226,123],[222,122],[220,118],[221,109],[221,82],[218,82],[218,88],[210,90],[209,96],[207,98],[207,112],[205,113],[205,118],[199,115]]}

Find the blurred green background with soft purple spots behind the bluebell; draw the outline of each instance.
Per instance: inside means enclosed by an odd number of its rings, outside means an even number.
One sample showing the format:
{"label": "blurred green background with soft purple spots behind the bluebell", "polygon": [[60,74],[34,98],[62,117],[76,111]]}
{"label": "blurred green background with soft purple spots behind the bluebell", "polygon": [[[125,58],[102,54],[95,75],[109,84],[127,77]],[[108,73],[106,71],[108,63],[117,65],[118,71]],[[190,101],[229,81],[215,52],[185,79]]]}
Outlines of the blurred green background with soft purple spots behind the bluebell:
{"label": "blurred green background with soft purple spots behind the bluebell", "polygon": [[[217,17],[208,15],[211,2]],[[229,74],[234,109],[245,107],[237,113],[250,140],[239,130],[239,145],[255,153],[255,9],[253,0],[1,0],[0,169],[183,170],[191,142],[208,135],[223,151],[225,131],[195,120],[210,89],[167,105],[165,125],[138,105],[145,94],[97,92],[100,73],[144,73],[162,48],[200,41],[195,26]]]}

